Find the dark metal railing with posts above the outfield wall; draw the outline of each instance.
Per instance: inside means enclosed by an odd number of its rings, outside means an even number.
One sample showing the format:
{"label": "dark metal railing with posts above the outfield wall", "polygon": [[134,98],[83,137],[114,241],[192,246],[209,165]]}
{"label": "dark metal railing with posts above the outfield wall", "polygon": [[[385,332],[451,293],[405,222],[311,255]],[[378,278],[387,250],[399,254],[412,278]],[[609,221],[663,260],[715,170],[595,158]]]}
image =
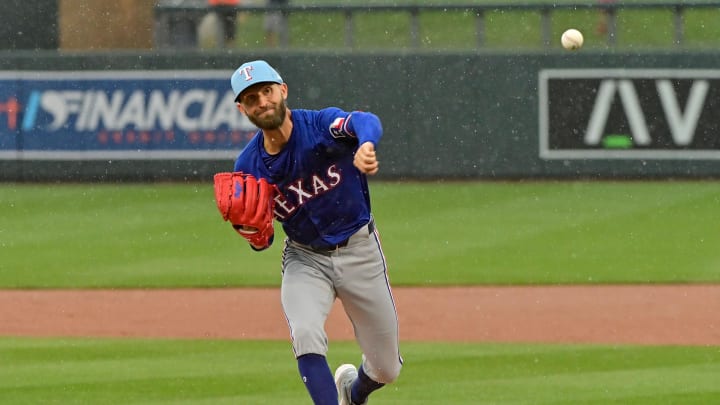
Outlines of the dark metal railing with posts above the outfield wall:
{"label": "dark metal railing with posts above the outfield wall", "polygon": [[[607,18],[606,42],[609,47],[616,46],[618,32],[618,11],[630,9],[659,9],[672,13],[672,43],[682,47],[685,43],[684,13],[689,9],[720,9],[720,2],[638,2],[619,3],[598,1],[582,4],[535,3],[535,4],[446,4],[446,5],[288,5],[255,6],[240,5],[210,7],[205,0],[161,0],[155,6],[155,47],[194,47],[197,45],[195,30],[199,20],[212,11],[244,12],[265,15],[280,13],[283,24],[289,24],[288,16],[300,13],[340,13],[344,16],[344,47],[356,47],[355,19],[359,13],[407,13],[410,19],[410,48],[421,47],[421,19],[423,12],[465,12],[474,15],[475,46],[486,46],[486,15],[491,12],[533,11],[540,15],[540,33],[542,44],[550,47],[552,40],[552,16],[558,11],[598,11]],[[287,32],[287,29],[283,30]],[[287,35],[279,38],[281,47],[288,47]]]}

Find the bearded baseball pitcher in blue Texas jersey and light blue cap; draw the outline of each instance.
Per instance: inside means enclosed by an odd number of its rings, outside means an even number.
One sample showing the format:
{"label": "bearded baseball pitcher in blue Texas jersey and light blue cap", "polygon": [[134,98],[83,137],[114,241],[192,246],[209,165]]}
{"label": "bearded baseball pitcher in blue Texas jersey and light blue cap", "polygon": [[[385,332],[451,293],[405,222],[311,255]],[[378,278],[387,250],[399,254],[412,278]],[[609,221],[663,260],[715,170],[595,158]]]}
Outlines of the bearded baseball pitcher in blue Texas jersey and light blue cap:
{"label": "bearded baseball pitcher in blue Texas jersey and light blue cap", "polygon": [[[380,120],[336,107],[291,110],[287,84],[262,60],[241,65],[231,85],[238,109],[259,131],[238,156],[234,174],[216,175],[218,207],[254,250],[273,243],[272,216],[283,226],[282,307],[314,403],[366,404],[402,367],[366,177],[378,172]],[[268,207],[273,215],[262,213]],[[257,220],[268,216],[269,226]],[[343,364],[333,377],[324,326],[336,298],[362,358],[359,367]]]}

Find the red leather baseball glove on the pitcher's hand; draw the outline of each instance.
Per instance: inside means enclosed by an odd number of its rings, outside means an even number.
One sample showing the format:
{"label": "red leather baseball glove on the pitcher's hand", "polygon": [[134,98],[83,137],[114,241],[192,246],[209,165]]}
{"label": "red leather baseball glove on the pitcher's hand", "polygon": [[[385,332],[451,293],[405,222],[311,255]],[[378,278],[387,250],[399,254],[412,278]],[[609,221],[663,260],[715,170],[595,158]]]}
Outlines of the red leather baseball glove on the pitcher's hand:
{"label": "red leather baseball glove on the pitcher's hand", "polygon": [[263,250],[273,242],[273,210],[277,187],[265,179],[256,179],[243,172],[217,173],[215,203],[225,221],[254,250]]}

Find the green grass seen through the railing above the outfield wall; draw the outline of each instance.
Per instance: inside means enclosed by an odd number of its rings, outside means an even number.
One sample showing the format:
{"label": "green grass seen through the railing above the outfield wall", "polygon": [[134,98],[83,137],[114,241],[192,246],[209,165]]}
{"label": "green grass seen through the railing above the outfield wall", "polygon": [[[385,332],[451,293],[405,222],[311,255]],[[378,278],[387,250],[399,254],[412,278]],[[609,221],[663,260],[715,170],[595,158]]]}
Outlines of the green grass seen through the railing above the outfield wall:
{"label": "green grass seen through the railing above the outfield wall", "polygon": [[[596,4],[592,1],[559,1],[555,4]],[[640,0],[625,4],[647,3]],[[674,3],[656,1],[656,4]],[[507,2],[453,1],[432,2],[351,0],[297,0],[293,5],[443,5],[443,4],[548,4],[545,1],[511,0]],[[714,49],[720,45],[720,17],[717,8],[689,8],[683,14],[684,44],[687,49]],[[585,35],[585,49],[606,49],[605,33],[598,32],[600,12],[595,9],[578,8],[553,10],[551,30],[553,45],[560,49],[560,34],[567,28],[577,28]],[[424,50],[474,50],[475,17],[462,11],[435,11],[420,14],[420,43]],[[345,16],[341,12],[295,12],[288,18],[291,49],[338,49],[344,47]],[[410,48],[410,17],[404,12],[358,13],[354,20],[356,49],[382,50]],[[673,48],[673,13],[670,9],[624,9],[617,14],[616,49]],[[483,48],[542,49],[540,14],[530,10],[502,10],[487,12],[484,20],[485,43]],[[236,47],[258,49],[265,47],[263,16],[244,13],[239,15]]]}

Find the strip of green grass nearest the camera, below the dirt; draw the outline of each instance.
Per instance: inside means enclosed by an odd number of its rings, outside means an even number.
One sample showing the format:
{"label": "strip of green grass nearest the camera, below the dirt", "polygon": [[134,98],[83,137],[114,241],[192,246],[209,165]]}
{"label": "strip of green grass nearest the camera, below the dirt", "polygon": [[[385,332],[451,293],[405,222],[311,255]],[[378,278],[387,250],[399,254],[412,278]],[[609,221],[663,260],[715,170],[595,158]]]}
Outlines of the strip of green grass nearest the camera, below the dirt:
{"label": "strip of green grass nearest the camera, below the dirt", "polygon": [[[714,404],[717,347],[406,343],[373,405]],[[311,404],[289,343],[0,338],[7,404]],[[328,360],[357,358],[331,342]]]}

